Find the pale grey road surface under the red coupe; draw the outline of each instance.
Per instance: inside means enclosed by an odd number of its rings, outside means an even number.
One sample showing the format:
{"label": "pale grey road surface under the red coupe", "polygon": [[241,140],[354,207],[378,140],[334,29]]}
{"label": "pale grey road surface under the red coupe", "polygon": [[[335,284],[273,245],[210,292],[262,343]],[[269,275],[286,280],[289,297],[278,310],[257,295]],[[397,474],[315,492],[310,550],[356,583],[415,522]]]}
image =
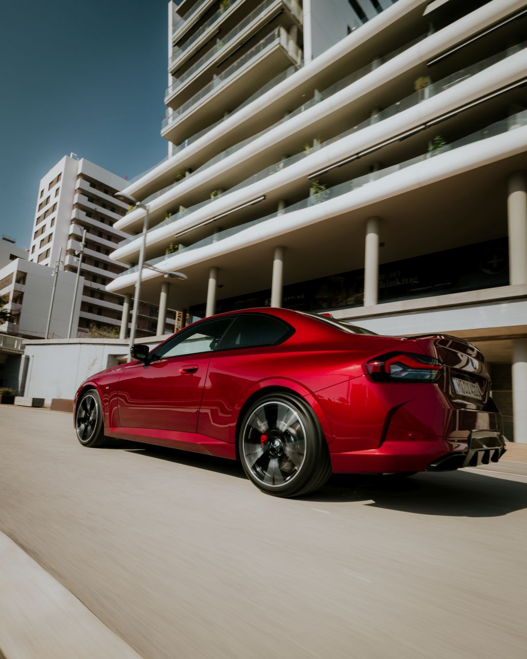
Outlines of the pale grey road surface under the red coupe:
{"label": "pale grey road surface under the red coupe", "polygon": [[281,500],[0,406],[0,530],[144,659],[523,659],[526,507],[525,476],[476,471]]}

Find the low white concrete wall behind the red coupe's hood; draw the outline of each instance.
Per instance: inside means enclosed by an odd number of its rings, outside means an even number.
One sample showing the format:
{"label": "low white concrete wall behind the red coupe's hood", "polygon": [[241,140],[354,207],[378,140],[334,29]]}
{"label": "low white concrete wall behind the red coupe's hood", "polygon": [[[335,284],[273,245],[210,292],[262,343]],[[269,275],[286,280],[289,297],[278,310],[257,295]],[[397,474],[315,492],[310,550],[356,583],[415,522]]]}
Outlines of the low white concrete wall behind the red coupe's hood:
{"label": "low white concrete wall behind the red coupe's hood", "polygon": [[[141,339],[154,347],[164,337]],[[72,399],[78,386],[109,366],[128,359],[128,341],[121,339],[50,339],[26,341],[24,356],[28,358],[26,385],[20,395],[43,398]]]}

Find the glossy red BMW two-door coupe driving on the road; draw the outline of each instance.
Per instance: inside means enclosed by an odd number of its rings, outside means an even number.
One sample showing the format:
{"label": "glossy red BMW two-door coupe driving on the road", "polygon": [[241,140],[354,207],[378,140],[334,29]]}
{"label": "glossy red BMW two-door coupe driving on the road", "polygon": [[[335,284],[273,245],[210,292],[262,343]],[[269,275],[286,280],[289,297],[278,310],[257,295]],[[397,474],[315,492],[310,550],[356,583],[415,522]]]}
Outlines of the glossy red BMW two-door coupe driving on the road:
{"label": "glossy red BMW two-door coupe driving on the road", "polygon": [[276,496],[334,473],[497,462],[501,414],[483,355],[448,335],[379,336],[281,308],[200,320],[78,389],[79,442],[110,438],[239,459]]}

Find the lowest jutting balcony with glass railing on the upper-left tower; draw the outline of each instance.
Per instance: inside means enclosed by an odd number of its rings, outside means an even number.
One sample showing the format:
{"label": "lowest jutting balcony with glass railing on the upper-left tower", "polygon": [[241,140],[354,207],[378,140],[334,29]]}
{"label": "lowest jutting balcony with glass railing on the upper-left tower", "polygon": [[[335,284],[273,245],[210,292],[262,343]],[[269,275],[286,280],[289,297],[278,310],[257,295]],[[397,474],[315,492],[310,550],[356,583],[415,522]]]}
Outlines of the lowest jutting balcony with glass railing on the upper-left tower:
{"label": "lowest jutting balcony with glass railing on the upper-left tower", "polygon": [[209,127],[229,107],[236,107],[260,89],[264,80],[292,64],[300,64],[301,59],[302,51],[286,30],[273,30],[200,92],[171,111],[163,121],[162,136],[180,142],[185,135]]}

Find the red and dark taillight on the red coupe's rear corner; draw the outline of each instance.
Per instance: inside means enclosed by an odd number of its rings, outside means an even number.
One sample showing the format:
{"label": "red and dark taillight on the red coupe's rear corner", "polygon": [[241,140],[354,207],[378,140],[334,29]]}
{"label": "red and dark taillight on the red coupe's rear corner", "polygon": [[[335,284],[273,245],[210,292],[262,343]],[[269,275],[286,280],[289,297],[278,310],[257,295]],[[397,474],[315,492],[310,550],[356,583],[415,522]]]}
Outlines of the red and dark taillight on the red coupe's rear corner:
{"label": "red and dark taillight on the red coupe's rear corner", "polygon": [[427,355],[388,353],[370,359],[366,369],[377,382],[437,382],[443,364]]}

